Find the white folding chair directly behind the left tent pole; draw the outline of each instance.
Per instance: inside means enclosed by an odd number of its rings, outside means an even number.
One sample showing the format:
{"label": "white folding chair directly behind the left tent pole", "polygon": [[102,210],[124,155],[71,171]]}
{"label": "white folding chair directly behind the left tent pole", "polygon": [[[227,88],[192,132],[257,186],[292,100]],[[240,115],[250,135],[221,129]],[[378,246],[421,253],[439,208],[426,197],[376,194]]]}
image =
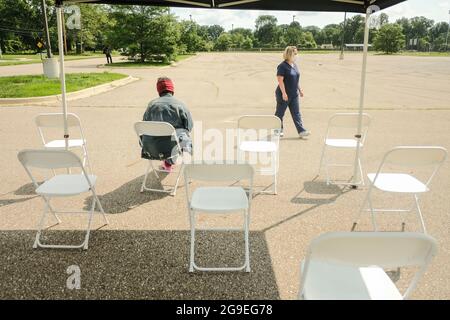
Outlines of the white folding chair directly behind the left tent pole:
{"label": "white folding chair directly behind the left tent pole", "polygon": [[[64,128],[64,115],[62,113],[41,113],[36,116],[35,122],[44,148],[49,150],[65,150],[65,139],[55,139],[47,141],[44,135],[44,131],[46,129]],[[79,131],[79,139],[68,139],[69,150],[80,148],[83,152],[83,166],[87,166],[89,172],[92,173],[92,168],[87,152],[86,139],[84,137],[83,128],[81,127],[80,118],[78,118],[78,116],[74,113],[68,113],[67,126],[69,129],[78,128]]]}

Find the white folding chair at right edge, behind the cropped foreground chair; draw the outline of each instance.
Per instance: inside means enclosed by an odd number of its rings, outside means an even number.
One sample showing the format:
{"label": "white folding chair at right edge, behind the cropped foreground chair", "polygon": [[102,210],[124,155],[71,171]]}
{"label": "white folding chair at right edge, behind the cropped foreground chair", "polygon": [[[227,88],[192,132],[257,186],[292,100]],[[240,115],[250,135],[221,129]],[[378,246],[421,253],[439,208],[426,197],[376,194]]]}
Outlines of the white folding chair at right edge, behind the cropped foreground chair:
{"label": "white folding chair at right edge, behind the cropped foreground chair", "polygon": [[[396,147],[388,151],[376,173],[369,173],[371,184],[367,191],[366,198],[364,199],[363,206],[360,213],[353,224],[353,229],[356,227],[361,214],[364,211],[370,211],[372,215],[372,224],[375,231],[377,231],[377,224],[375,221],[376,212],[411,212],[414,207],[420,219],[422,231],[426,233],[425,222],[423,221],[422,211],[419,206],[419,194],[430,191],[429,186],[447,159],[447,150],[442,147],[427,147],[427,146],[409,146],[409,147]],[[396,168],[402,167],[403,172],[387,172],[386,167],[395,166]],[[420,181],[413,174],[411,170],[417,167],[429,167],[431,170],[430,175],[425,182]],[[408,172],[408,173],[405,173]],[[414,205],[410,209],[375,209],[372,205],[372,192],[373,188],[376,188],[383,192],[390,192],[394,194],[409,194],[414,198]],[[369,208],[366,209],[367,204]],[[403,227],[405,222],[403,221]]]}

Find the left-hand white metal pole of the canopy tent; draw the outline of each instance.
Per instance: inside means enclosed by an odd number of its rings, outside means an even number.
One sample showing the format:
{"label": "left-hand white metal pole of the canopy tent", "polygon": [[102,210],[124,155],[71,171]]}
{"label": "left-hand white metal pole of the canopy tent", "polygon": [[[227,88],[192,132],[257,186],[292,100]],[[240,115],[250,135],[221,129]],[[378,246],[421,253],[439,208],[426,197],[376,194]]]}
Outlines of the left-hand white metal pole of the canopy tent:
{"label": "left-hand white metal pole of the canopy tent", "polygon": [[67,100],[66,100],[66,75],[64,73],[64,42],[63,42],[63,22],[64,11],[62,5],[56,7],[56,23],[58,27],[58,49],[59,49],[59,79],[61,81],[61,100],[64,117],[64,141],[66,150],[69,149],[69,130],[67,127]]}

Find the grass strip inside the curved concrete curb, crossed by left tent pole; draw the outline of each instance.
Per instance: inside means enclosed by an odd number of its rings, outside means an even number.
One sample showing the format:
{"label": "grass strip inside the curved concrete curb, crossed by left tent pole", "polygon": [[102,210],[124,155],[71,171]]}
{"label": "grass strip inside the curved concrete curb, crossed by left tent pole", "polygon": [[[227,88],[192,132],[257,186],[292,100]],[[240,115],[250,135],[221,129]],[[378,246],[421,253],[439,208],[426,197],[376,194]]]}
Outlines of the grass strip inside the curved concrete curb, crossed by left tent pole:
{"label": "grass strip inside the curved concrete curb, crossed by left tent pole", "polygon": [[[120,73],[69,73],[66,74],[67,92],[94,87],[127,77]],[[29,98],[61,93],[59,79],[43,75],[0,77],[0,98]]]}

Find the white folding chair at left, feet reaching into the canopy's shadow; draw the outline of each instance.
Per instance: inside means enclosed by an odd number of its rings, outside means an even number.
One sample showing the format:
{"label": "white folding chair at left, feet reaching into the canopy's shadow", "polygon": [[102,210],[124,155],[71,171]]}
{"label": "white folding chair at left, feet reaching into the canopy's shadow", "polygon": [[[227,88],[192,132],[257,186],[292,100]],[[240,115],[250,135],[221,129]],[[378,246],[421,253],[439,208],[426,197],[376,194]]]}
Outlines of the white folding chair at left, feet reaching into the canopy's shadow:
{"label": "white folding chair at left, feet reaching into the canopy's shadow", "polygon": [[[103,207],[97,197],[97,194],[95,193],[95,183],[97,181],[97,177],[92,174],[88,175],[83,164],[81,163],[80,158],[73,152],[67,150],[23,150],[19,152],[18,159],[31,178],[31,181],[36,188],[35,192],[40,195],[45,201],[45,209],[38,225],[38,231],[33,248],[83,248],[86,250],[88,248],[89,234],[91,231],[91,221],[92,216],[95,212],[96,204],[98,205],[103,215],[105,224],[108,224],[108,219],[106,218],[105,212],[103,211]],[[58,174],[39,185],[31,172],[32,168],[51,170],[62,168],[79,168],[81,169],[81,174]],[[89,211],[56,211],[50,205],[50,201],[52,198],[73,197],[86,192],[92,193],[92,204]],[[44,228],[44,224],[46,223],[48,212],[50,212],[54,216],[58,224],[61,222],[57,215],[58,213],[87,213],[88,224],[86,228],[86,236],[83,243],[81,243],[80,245],[42,244],[40,237],[42,229]]]}

